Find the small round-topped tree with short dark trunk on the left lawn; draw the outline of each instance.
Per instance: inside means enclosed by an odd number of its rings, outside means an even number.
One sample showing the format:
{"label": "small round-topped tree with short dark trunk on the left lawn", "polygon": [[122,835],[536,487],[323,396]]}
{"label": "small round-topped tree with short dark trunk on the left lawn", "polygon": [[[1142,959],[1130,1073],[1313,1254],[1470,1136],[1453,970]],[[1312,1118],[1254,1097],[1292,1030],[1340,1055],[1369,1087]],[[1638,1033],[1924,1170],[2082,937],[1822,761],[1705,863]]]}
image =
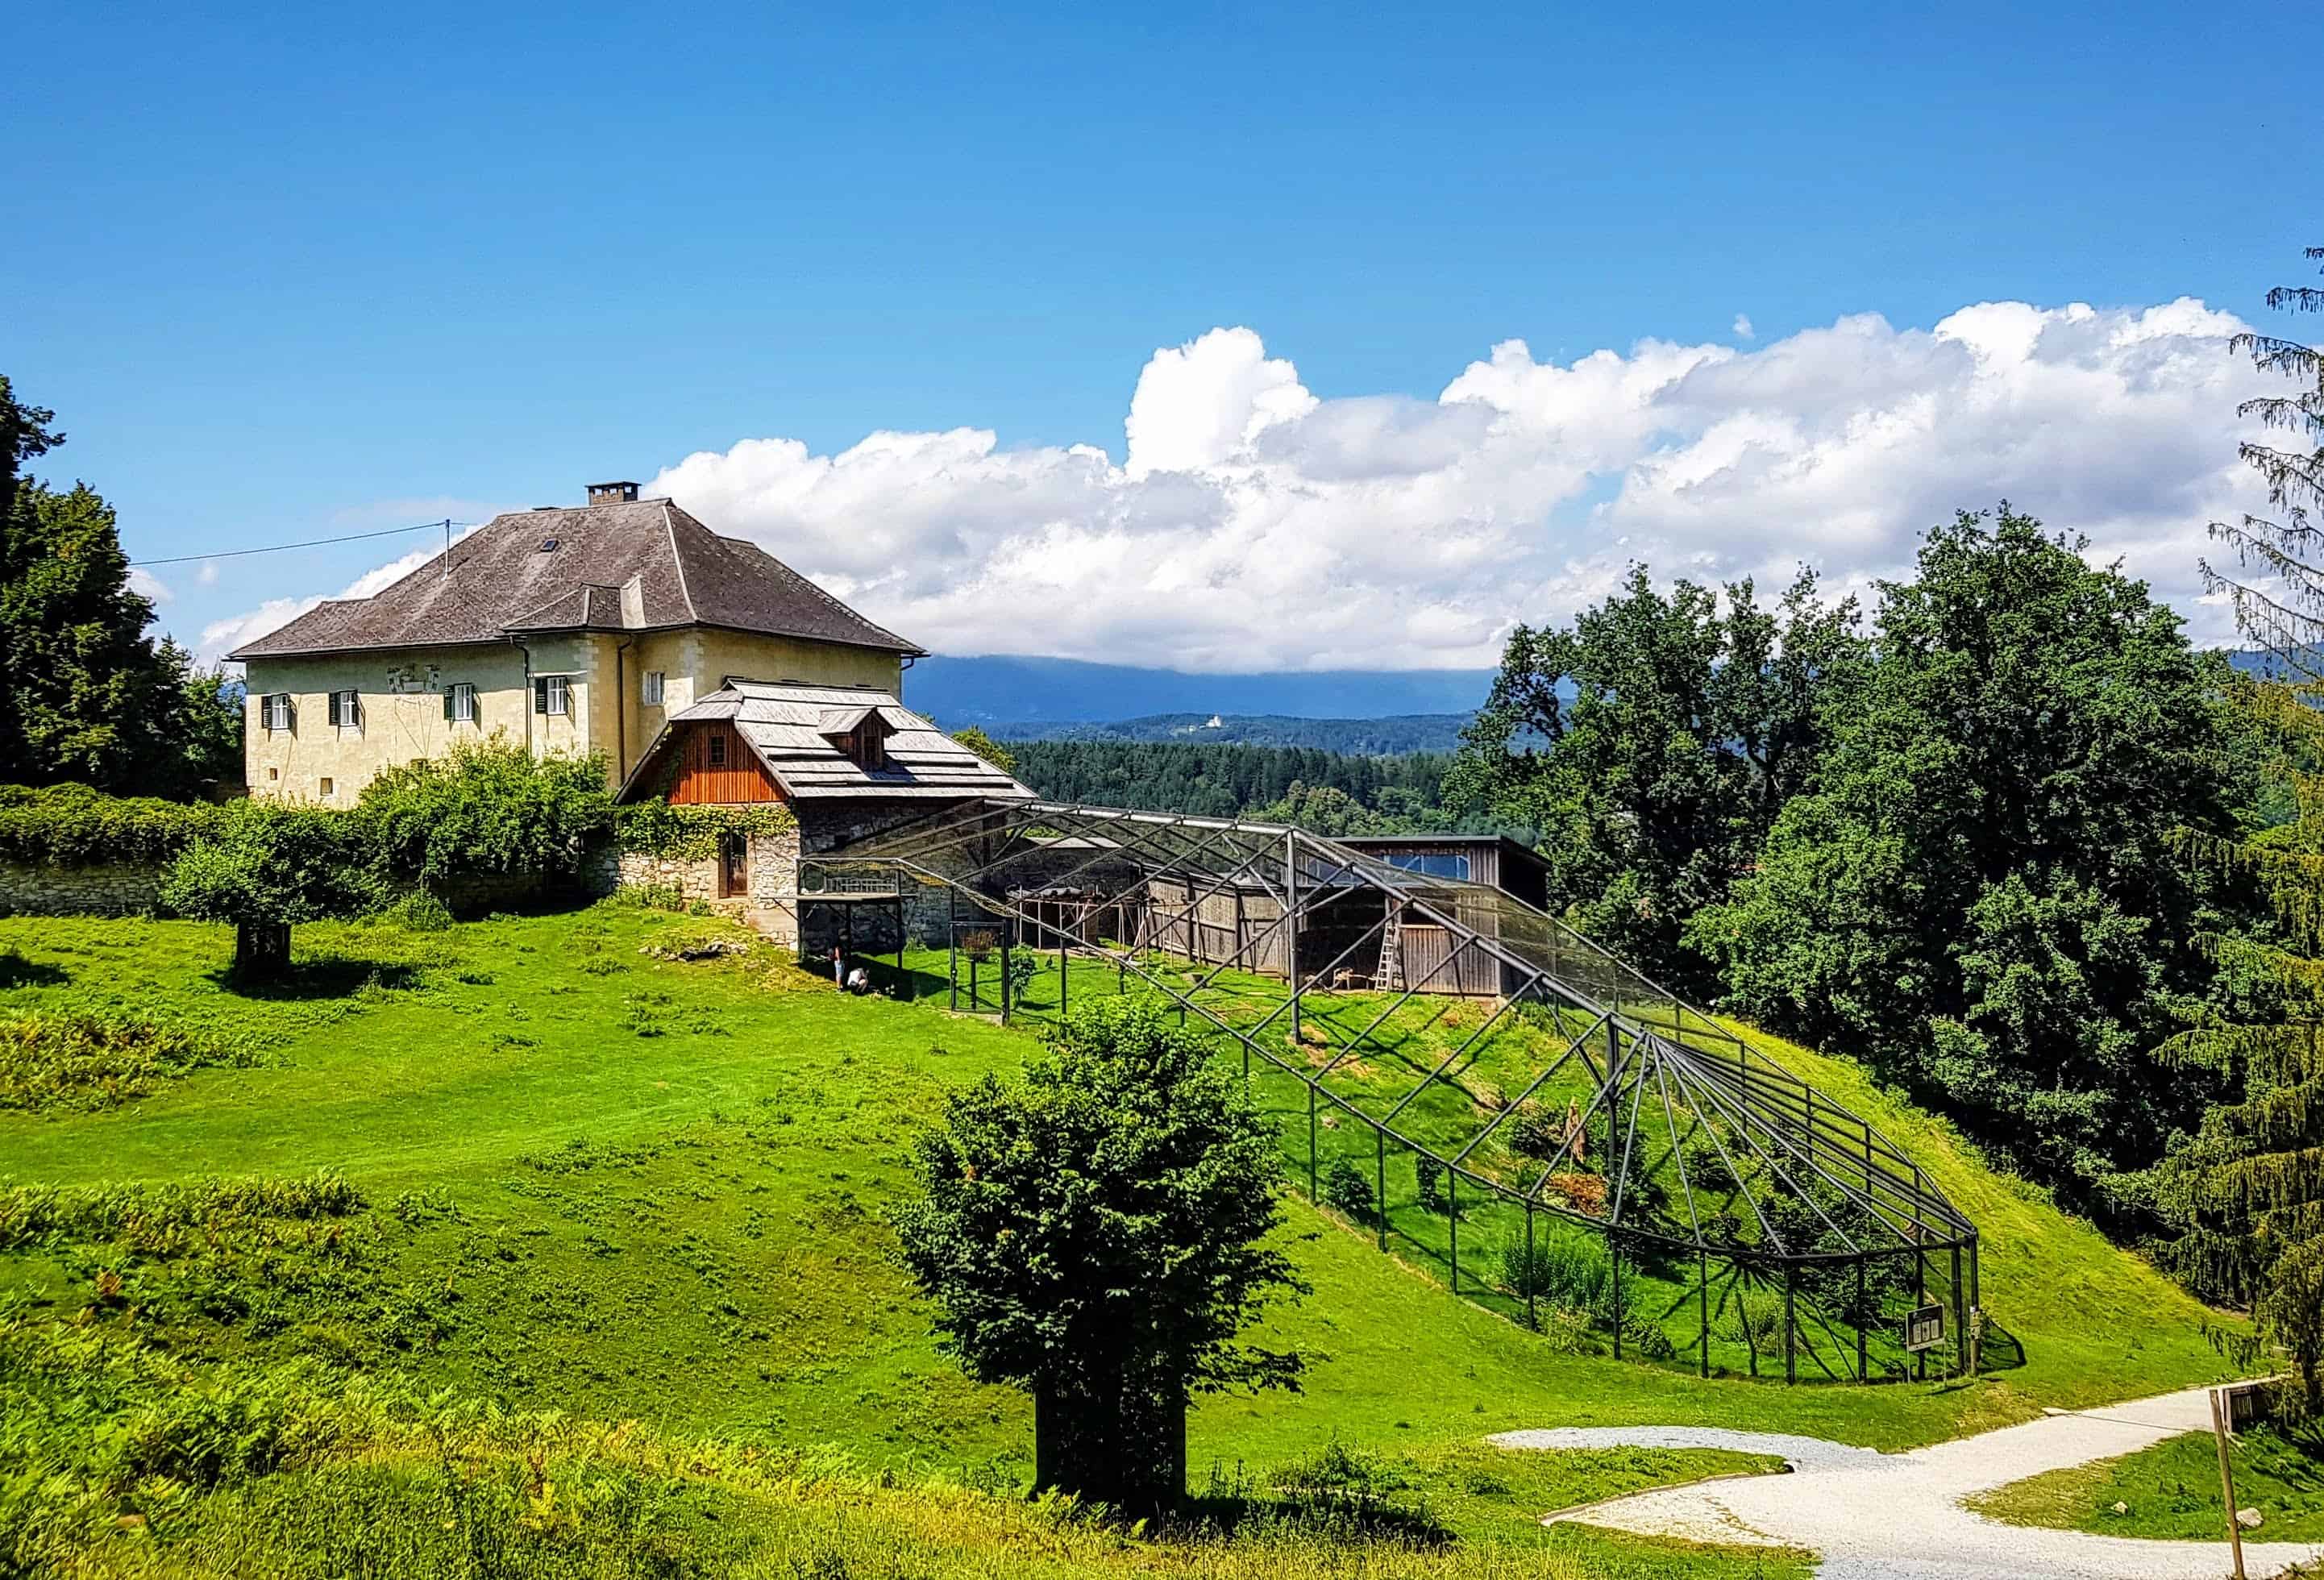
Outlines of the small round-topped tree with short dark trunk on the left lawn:
{"label": "small round-topped tree with short dark trunk on the left lawn", "polygon": [[216,832],[179,853],[160,902],[198,922],[235,925],[235,976],[290,964],[290,927],[381,904],[374,841],[344,811],[237,802]]}

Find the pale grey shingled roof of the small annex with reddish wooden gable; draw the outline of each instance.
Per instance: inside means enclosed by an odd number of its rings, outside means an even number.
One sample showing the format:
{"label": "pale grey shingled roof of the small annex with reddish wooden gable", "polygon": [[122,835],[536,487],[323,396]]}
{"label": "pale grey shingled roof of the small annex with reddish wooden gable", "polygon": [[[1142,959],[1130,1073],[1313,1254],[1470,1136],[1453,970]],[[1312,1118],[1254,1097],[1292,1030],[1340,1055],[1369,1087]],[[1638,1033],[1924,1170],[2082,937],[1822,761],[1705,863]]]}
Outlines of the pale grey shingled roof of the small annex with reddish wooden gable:
{"label": "pale grey shingled roof of the small annex with reddish wooden gable", "polygon": [[[888,767],[878,771],[860,767],[830,739],[860,725],[865,713],[878,713],[881,723],[892,730]],[[937,730],[890,692],[760,681],[737,681],[672,713],[637,760],[621,797],[632,799],[637,788],[648,781],[653,762],[681,727],[704,720],[730,720],[783,792],[802,802],[839,797],[957,802],[978,795],[1034,799],[1032,790]]]}

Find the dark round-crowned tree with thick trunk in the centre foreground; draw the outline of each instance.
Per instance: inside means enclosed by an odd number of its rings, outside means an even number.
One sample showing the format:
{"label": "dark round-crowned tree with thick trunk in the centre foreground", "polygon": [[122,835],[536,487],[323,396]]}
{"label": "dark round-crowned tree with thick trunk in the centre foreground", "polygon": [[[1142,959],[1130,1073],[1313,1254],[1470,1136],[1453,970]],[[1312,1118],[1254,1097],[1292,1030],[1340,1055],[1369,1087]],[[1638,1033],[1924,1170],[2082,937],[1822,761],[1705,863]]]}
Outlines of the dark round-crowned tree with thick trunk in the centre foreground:
{"label": "dark round-crowned tree with thick trunk in the centre foreground", "polygon": [[1125,999],[1050,1032],[1025,1078],[955,1092],[897,1211],[944,1345],[1034,1401],[1041,1487],[1153,1515],[1185,1494],[1195,1394],[1299,1385],[1236,1341],[1276,1292],[1283,1162],[1239,1078]]}

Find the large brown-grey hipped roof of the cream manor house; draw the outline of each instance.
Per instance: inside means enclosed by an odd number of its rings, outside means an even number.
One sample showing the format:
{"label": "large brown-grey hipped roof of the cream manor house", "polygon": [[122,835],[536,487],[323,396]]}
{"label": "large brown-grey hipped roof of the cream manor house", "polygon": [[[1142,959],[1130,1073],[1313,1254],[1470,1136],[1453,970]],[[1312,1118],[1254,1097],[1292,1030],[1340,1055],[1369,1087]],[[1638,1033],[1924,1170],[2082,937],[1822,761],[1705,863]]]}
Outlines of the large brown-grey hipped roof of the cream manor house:
{"label": "large brown-grey hipped roof of the cream manor house", "polygon": [[228,658],[672,625],[920,653],[755,544],[718,537],[669,500],[623,500],[495,516],[453,544],[451,574],[437,555],[374,597],[316,604]]}

